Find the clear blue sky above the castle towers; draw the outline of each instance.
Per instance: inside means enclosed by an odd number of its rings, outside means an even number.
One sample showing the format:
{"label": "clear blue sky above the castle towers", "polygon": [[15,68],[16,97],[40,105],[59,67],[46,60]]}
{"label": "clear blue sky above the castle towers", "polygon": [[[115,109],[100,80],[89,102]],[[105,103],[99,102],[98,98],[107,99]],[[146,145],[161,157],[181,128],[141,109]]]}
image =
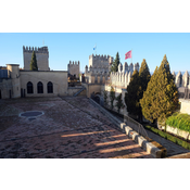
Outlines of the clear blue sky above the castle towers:
{"label": "clear blue sky above the castle towers", "polygon": [[150,72],[160,66],[164,54],[170,71],[190,72],[189,33],[0,33],[0,66],[20,64],[23,67],[23,46],[49,48],[49,65],[53,71],[66,71],[71,61],[80,61],[80,71],[88,65],[90,54],[110,54],[118,51],[121,62],[132,49],[132,63],[145,59]]}

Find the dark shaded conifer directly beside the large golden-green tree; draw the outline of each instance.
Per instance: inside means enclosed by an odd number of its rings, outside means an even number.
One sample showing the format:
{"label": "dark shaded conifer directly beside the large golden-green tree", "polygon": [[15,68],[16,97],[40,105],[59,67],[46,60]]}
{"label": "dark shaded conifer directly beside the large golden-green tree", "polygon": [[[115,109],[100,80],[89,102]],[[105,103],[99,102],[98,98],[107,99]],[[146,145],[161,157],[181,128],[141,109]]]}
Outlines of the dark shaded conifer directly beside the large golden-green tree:
{"label": "dark shaded conifer directly beside the large golden-green tree", "polygon": [[140,99],[140,77],[139,72],[135,69],[130,83],[127,87],[127,93],[125,94],[125,103],[127,105],[127,112],[132,115],[139,115],[141,107],[139,103]]}

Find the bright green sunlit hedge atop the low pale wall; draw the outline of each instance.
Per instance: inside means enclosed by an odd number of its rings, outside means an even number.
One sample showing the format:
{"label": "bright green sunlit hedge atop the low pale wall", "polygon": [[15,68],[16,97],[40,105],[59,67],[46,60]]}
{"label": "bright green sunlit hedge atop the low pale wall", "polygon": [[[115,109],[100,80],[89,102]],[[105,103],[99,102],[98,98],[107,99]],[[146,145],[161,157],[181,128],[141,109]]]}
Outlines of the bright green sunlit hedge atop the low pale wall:
{"label": "bright green sunlit hedge atop the low pale wall", "polygon": [[166,119],[166,125],[190,132],[190,115],[174,113]]}

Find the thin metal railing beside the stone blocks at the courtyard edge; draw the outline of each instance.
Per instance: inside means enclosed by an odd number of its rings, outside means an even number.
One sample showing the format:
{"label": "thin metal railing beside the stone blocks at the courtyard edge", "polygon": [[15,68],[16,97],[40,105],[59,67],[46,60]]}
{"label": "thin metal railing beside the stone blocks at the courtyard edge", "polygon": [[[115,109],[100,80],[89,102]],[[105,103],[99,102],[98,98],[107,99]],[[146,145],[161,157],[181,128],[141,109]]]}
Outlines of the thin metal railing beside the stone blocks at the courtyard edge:
{"label": "thin metal railing beside the stone blocks at the courtyard edge", "polygon": [[129,117],[128,115],[124,115],[124,123],[126,123],[129,127],[136,130],[139,135],[144,137],[148,141],[150,140],[148,132],[143,128],[141,124]]}

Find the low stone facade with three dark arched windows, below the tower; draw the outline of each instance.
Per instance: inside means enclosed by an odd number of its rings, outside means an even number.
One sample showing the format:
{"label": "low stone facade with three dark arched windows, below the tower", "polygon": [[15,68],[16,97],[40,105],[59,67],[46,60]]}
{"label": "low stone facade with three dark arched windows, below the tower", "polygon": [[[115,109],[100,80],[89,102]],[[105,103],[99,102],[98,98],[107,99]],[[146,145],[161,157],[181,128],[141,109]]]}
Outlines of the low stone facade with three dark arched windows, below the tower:
{"label": "low stone facade with three dark arched windows, below the tower", "polygon": [[7,64],[7,68],[8,78],[0,81],[1,99],[68,94],[66,71],[25,71],[18,64]]}

